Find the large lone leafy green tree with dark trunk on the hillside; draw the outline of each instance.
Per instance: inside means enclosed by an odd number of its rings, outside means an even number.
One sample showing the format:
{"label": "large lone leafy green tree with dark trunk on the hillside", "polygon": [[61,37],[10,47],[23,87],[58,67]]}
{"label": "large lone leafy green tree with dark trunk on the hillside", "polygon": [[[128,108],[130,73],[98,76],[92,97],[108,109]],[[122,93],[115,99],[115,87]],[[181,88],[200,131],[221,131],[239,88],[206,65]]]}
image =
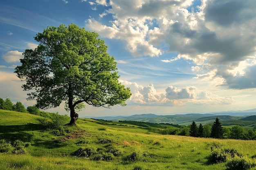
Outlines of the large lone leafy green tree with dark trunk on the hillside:
{"label": "large lone leafy green tree with dark trunk on the hillside", "polygon": [[104,41],[96,32],[75,24],[48,26],[38,33],[35,50],[27,49],[15,73],[21,80],[28,100],[36,99],[38,108],[54,108],[65,102],[70,110],[69,125],[76,124],[76,110],[86,103],[111,108],[126,105],[130,89],[119,83],[117,63],[107,53]]}

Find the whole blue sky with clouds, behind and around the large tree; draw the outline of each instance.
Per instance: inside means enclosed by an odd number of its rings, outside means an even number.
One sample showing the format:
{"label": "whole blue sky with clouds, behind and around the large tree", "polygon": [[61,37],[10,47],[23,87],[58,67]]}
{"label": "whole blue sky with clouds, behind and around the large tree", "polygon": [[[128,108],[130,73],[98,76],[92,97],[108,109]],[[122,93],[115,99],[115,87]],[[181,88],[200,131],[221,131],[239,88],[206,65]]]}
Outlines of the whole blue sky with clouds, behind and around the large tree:
{"label": "whole blue sky with clouds, behind and around the large tree", "polygon": [[[174,115],[256,108],[254,0],[1,0],[0,98],[27,101],[13,73],[47,26],[96,31],[117,62],[127,106],[80,117]],[[67,114],[64,104],[47,111]]]}

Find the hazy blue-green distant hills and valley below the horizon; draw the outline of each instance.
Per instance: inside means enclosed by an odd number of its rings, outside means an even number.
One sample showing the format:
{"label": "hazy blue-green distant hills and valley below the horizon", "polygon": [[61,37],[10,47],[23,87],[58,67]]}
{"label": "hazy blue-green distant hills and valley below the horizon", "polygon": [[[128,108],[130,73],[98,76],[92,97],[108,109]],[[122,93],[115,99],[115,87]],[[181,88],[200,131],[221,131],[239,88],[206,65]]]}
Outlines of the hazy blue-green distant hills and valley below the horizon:
{"label": "hazy blue-green distant hills and valley below the horizon", "polygon": [[197,124],[209,124],[212,123],[216,117],[222,121],[223,124],[238,124],[243,126],[246,124],[244,121],[256,121],[256,109],[244,110],[244,111],[226,111],[226,112],[214,112],[214,113],[188,113],[184,115],[155,115],[155,114],[141,114],[131,116],[106,116],[106,117],[90,117],[93,119],[103,119],[111,121],[143,121],[149,123],[168,123],[189,125],[192,121]]}

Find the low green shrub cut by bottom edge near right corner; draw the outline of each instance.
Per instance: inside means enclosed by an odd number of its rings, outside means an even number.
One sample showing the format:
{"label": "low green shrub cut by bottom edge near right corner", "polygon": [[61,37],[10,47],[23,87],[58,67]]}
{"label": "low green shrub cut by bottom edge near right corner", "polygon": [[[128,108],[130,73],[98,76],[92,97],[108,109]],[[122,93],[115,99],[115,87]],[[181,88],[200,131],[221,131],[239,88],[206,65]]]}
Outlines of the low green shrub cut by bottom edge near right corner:
{"label": "low green shrub cut by bottom edge near right corner", "polygon": [[249,159],[234,157],[226,164],[227,170],[247,170],[255,165],[251,163]]}

